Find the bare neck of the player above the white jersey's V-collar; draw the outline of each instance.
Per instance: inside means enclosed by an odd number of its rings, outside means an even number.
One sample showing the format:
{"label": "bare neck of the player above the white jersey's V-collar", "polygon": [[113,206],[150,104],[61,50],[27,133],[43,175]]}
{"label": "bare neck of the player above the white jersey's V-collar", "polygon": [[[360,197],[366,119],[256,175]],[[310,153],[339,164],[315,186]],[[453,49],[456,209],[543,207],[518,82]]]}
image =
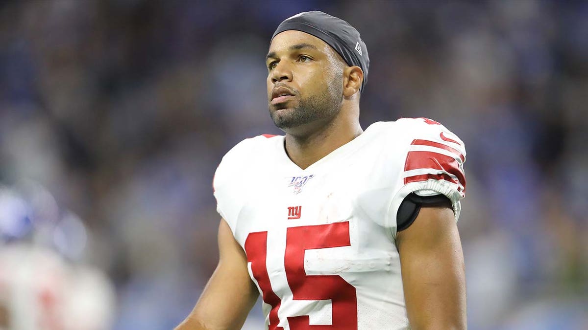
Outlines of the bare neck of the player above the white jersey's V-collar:
{"label": "bare neck of the player above the white jersey's V-collar", "polygon": [[305,136],[286,134],[286,153],[304,170],[362,133],[358,120],[336,118]]}

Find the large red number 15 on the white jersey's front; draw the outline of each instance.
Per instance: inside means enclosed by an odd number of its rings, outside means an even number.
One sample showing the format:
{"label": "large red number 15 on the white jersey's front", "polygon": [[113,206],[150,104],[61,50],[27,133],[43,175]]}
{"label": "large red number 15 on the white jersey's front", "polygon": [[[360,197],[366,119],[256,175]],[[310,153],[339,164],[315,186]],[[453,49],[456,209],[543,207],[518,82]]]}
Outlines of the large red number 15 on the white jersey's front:
{"label": "large red number 15 on the white jersey's front", "polygon": [[[308,315],[288,316],[292,330],[341,329],[357,330],[358,302],[355,288],[339,275],[306,275],[305,250],[345,247],[349,241],[349,222],[290,227],[286,232],[284,265],[286,279],[294,300],[326,300],[332,303],[332,325],[310,325]],[[281,300],[273,292],[266,268],[268,232],[250,233],[245,241],[247,261],[251,262],[253,277],[262,291],[262,298],[272,309],[269,312],[269,330],[283,330],[278,326],[278,309]]]}

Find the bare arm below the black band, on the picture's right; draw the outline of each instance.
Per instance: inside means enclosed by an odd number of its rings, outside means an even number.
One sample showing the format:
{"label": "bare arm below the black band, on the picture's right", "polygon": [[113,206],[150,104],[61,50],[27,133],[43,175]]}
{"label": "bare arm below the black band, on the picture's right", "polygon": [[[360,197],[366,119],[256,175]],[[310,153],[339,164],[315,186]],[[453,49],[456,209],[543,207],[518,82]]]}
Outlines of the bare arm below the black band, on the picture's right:
{"label": "bare arm below the black band, on the picture's right", "polygon": [[422,207],[396,245],[411,328],[466,329],[465,264],[451,208]]}

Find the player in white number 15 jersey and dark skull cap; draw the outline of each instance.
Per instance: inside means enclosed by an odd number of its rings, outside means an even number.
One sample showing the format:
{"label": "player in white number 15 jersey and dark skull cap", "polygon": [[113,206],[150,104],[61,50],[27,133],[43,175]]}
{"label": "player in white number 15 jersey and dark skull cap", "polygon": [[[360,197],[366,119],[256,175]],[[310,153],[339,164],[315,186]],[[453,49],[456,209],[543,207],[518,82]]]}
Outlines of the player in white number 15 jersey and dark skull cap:
{"label": "player in white number 15 jersey and dark skull cap", "polygon": [[285,136],[245,139],[213,186],[220,260],[176,329],[465,329],[465,145],[425,118],[359,124],[369,57],[323,12],[272,36],[268,103]]}

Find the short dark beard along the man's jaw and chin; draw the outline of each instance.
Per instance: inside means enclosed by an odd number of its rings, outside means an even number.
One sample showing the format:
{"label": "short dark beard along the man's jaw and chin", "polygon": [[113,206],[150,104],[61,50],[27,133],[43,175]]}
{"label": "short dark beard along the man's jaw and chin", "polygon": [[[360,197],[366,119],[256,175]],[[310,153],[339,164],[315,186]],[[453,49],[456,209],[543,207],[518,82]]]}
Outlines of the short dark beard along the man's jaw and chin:
{"label": "short dark beard along the man's jaw and chin", "polygon": [[326,87],[322,93],[317,95],[300,98],[296,106],[286,109],[286,111],[282,109],[270,111],[273,123],[279,129],[284,130],[335,117],[341,109],[343,86],[333,85],[330,88]]}

